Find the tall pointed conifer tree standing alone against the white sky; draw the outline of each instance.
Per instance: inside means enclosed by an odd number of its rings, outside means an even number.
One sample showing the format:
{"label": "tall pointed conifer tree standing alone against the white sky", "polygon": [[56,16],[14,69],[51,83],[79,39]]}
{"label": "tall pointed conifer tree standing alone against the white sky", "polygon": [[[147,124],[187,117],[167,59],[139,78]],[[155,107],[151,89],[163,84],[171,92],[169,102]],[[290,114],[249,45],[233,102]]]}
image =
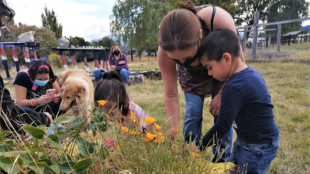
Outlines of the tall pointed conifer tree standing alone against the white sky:
{"label": "tall pointed conifer tree standing alone against the white sky", "polygon": [[44,13],[41,14],[41,21],[43,27],[49,27],[51,31],[54,32],[57,39],[61,38],[62,36],[62,25],[58,24],[55,11],[52,9],[52,11],[47,10],[47,7],[45,5],[44,7]]}

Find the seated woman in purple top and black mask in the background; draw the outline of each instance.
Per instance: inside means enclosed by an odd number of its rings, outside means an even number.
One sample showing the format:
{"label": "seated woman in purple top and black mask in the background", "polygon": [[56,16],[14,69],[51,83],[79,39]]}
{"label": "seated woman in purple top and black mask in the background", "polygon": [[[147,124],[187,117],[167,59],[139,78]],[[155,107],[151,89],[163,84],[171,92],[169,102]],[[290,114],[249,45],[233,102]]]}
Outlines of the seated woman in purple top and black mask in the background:
{"label": "seated woman in purple top and black mask in the background", "polygon": [[128,85],[128,77],[130,75],[127,56],[121,53],[121,49],[118,44],[114,44],[111,48],[109,55],[110,70],[117,70],[121,75],[123,82]]}

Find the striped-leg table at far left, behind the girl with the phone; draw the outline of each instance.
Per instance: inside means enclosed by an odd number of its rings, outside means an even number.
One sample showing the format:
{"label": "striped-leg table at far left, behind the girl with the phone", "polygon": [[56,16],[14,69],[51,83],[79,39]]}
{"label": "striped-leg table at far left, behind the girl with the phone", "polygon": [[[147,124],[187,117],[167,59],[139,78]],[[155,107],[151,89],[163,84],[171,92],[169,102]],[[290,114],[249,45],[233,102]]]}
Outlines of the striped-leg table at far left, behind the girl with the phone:
{"label": "striped-leg table at far left, behind the girl with the phone", "polygon": [[17,48],[21,47],[22,53],[27,63],[27,66],[30,66],[30,57],[29,57],[29,48],[33,51],[34,60],[38,60],[36,47],[40,47],[39,43],[36,42],[0,42],[0,54],[1,59],[4,65],[5,72],[7,74],[7,78],[10,78],[9,67],[7,64],[7,52],[6,48],[9,47],[11,49],[11,53],[13,56],[14,63],[16,65],[16,72],[20,71],[19,61],[17,56]]}

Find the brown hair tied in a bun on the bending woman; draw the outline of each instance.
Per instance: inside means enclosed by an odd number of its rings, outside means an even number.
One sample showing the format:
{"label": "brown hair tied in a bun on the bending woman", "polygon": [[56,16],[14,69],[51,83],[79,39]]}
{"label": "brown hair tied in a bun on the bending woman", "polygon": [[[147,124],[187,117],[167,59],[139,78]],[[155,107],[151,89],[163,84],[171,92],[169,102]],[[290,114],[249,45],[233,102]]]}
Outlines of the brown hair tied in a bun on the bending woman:
{"label": "brown hair tied in a bun on the bending woman", "polygon": [[164,51],[188,49],[200,40],[201,23],[197,17],[195,4],[180,2],[179,8],[170,11],[160,23],[159,46]]}

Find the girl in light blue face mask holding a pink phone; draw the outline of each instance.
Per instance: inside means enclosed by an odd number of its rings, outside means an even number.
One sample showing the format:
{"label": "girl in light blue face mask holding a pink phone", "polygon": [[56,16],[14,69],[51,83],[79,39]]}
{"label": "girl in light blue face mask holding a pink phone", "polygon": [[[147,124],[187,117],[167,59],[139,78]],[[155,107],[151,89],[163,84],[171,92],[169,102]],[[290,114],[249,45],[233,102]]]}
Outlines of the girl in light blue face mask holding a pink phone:
{"label": "girl in light blue face mask holding a pink phone", "polygon": [[[33,61],[29,69],[19,71],[13,80],[16,103],[22,108],[31,108],[36,112],[49,112],[55,116],[59,111],[60,86],[51,66],[42,60]],[[47,97],[46,91],[55,89],[54,97]]]}

